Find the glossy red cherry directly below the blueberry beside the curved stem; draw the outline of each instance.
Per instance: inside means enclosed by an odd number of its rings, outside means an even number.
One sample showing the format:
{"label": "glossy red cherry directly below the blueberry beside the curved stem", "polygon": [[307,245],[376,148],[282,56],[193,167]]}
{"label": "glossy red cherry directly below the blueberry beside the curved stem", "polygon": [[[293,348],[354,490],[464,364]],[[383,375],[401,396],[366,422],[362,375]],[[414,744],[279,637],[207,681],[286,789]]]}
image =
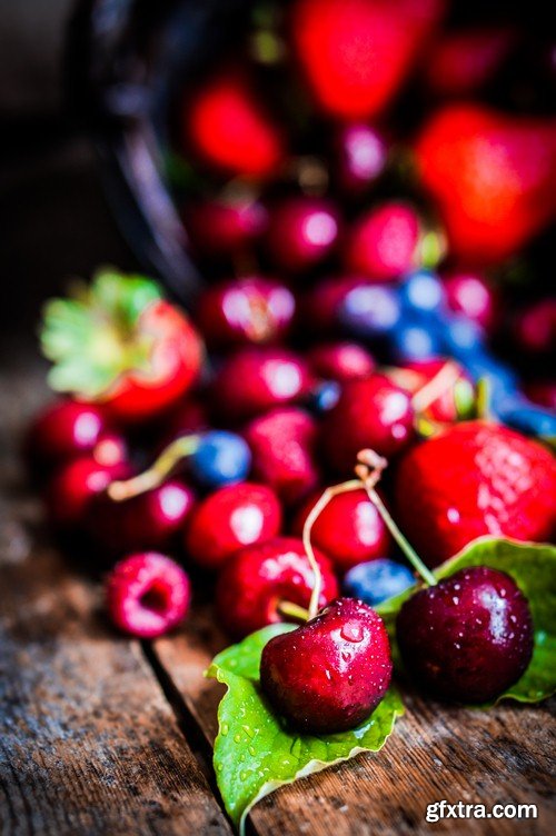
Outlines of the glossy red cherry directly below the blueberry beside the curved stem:
{"label": "glossy red cherry directly below the blueberry beside the curved stem", "polygon": [[186,529],[186,551],[200,566],[218,569],[240,548],[276,537],[280,528],[275,491],[266,485],[238,482],[199,502]]}

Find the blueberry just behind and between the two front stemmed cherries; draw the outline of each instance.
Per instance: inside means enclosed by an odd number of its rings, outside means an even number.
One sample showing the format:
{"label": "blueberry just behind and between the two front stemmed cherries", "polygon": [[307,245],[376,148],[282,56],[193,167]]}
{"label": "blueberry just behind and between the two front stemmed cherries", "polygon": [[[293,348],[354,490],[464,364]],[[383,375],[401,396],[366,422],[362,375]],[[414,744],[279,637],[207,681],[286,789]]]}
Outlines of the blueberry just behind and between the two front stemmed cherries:
{"label": "blueberry just behind and between the two front stemmed cherries", "polygon": [[385,557],[349,569],[344,578],[344,590],[374,607],[393,595],[404,593],[414,584],[415,578],[407,566]]}

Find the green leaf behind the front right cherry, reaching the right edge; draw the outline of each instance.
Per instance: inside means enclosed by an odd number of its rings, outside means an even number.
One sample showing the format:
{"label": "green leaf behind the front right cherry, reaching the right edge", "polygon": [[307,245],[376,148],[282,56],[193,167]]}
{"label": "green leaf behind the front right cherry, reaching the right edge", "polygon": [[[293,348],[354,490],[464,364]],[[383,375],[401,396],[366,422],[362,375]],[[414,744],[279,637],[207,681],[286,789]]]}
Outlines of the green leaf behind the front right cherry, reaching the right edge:
{"label": "green leaf behind the front right cherry, reaching the right edge", "polygon": [[[510,575],[529,601],[533,614],[535,645],[529,667],[495,703],[500,699],[519,703],[546,699],[556,691],[556,547],[481,537],[435,569],[434,575],[440,580],[467,566],[489,566]],[[396,616],[404,601],[418,588],[416,585],[376,608],[390,635],[395,660]]]}

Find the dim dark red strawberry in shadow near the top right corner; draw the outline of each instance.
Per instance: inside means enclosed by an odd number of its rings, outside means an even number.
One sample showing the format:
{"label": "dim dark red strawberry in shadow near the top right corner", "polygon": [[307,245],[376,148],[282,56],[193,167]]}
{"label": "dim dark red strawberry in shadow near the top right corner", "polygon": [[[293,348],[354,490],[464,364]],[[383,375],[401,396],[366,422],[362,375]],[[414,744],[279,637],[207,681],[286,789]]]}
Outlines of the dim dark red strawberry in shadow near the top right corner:
{"label": "dim dark red strawberry in shadow near the top right corner", "polygon": [[468,96],[484,87],[516,42],[509,28],[464,29],[443,34],[428,51],[428,87],[441,96]]}

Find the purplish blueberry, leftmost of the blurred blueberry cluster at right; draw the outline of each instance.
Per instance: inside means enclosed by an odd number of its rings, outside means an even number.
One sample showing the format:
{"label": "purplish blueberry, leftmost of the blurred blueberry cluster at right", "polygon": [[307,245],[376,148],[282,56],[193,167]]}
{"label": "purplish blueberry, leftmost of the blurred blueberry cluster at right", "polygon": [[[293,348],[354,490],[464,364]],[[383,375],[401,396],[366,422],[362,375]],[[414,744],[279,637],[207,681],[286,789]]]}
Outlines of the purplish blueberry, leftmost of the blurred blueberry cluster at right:
{"label": "purplish blueberry, leftmost of the blurred blueberry cluster at right", "polygon": [[359,337],[389,334],[401,316],[398,293],[385,285],[360,285],[347,293],[338,311],[341,325]]}

